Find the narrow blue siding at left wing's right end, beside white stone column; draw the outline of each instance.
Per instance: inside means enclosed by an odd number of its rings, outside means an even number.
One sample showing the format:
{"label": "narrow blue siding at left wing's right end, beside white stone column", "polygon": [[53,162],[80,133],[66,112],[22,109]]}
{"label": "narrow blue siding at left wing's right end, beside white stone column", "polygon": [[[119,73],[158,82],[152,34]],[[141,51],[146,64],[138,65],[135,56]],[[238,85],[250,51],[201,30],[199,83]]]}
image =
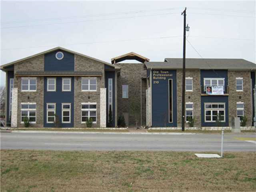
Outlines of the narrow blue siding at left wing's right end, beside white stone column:
{"label": "narrow blue siding at left wing's right end, beside white stone column", "polygon": [[109,78],[113,79],[113,127],[115,127],[115,71],[105,71],[105,87],[107,88],[107,122],[109,122]]}

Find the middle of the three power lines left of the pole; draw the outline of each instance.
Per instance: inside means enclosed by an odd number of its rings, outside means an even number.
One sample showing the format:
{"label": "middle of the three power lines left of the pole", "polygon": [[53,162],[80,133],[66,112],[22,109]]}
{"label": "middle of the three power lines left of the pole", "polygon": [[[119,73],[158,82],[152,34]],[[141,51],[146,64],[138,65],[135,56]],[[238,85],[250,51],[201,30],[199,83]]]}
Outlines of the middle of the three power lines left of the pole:
{"label": "middle of the three power lines left of the pole", "polygon": [[1,29],[11,29],[11,28],[20,28],[20,27],[33,27],[33,26],[46,26],[46,25],[61,25],[61,24],[81,23],[81,22],[93,22],[93,21],[109,21],[109,20],[115,20],[115,19],[127,19],[127,18],[129,19],[129,18],[149,17],[149,16],[158,16],[158,15],[170,15],[170,14],[177,14],[177,13],[140,15],[140,16],[133,16],[133,17],[119,17],[119,18],[98,19],[98,20],[85,20],[85,21],[63,22],[63,23],[48,23],[48,24],[41,24],[41,25],[26,25],[26,26],[15,26],[15,27],[1,27]]}

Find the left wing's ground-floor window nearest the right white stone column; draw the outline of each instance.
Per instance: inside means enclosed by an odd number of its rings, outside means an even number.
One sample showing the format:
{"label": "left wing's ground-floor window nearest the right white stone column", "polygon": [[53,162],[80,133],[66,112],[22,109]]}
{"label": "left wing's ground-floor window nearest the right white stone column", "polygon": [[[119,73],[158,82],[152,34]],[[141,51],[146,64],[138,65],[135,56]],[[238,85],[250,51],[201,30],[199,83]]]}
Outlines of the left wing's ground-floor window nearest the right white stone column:
{"label": "left wing's ground-floor window nearest the right white stone column", "polygon": [[93,119],[93,123],[97,122],[97,103],[82,103],[82,123]]}

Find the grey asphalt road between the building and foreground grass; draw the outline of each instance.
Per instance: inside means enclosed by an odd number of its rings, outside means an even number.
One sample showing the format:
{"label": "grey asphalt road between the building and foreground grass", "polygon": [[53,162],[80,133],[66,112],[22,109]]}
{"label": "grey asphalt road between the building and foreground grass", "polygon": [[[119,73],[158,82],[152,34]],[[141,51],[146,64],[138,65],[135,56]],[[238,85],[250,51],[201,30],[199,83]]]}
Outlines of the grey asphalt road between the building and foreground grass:
{"label": "grey asphalt road between the building and foreground grass", "polygon": [[[255,137],[255,134],[226,134],[223,149],[256,151]],[[221,134],[1,133],[1,149],[220,151]]]}

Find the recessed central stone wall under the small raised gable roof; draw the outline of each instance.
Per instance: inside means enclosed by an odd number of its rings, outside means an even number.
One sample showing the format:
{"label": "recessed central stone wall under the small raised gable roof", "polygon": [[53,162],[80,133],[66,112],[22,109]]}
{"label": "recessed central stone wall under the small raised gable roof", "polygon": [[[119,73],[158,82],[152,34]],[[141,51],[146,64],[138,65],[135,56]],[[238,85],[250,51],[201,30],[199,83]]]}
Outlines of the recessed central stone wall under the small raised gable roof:
{"label": "recessed central stone wall under the small raised gable roof", "polygon": [[[141,78],[146,78],[147,72],[143,69],[143,63],[116,63],[115,65],[121,67],[121,75],[117,79],[118,115],[129,113],[129,126],[134,126],[135,118],[130,113],[130,105],[133,102],[137,102],[139,103],[139,108],[141,108]],[[122,85],[129,85],[128,99],[122,98]],[[141,109],[139,110],[141,111]],[[138,126],[140,125],[141,115],[139,115],[138,119]]]}

